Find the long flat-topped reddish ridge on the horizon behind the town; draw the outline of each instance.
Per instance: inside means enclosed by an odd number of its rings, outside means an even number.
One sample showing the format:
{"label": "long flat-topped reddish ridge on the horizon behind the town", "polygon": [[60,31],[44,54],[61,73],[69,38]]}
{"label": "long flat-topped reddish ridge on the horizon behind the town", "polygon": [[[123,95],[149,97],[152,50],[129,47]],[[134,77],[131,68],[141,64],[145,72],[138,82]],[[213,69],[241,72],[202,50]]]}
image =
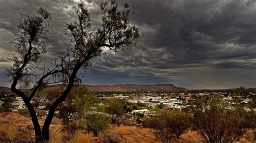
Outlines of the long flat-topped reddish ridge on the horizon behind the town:
{"label": "long flat-topped reddish ridge on the horizon behind the town", "polygon": [[[64,84],[58,85],[49,85],[44,90],[50,91],[55,90],[61,87],[64,87]],[[85,85],[80,84],[79,86],[86,88],[91,92],[163,92],[163,91],[188,91],[185,88],[176,87],[173,84],[157,84],[157,85],[143,85],[143,84],[119,84],[119,85]],[[0,87],[0,92],[11,92],[10,88]]]}

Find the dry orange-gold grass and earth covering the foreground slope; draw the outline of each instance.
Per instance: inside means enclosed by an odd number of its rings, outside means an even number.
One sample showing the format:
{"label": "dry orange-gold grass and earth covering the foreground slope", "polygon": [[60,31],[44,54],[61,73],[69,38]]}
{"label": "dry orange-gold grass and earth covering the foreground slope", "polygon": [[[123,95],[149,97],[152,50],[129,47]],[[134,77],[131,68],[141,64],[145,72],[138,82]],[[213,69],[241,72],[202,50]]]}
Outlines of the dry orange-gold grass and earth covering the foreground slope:
{"label": "dry orange-gold grass and earth covering the foreground slope", "polygon": [[[39,118],[43,123],[43,118]],[[94,138],[88,134],[85,127],[76,130],[70,137],[61,121],[54,118],[50,128],[51,142],[161,142],[156,139],[153,130],[136,126],[110,126],[105,133],[100,133]],[[0,113],[0,141],[34,141],[35,135],[30,117],[21,116],[18,113]],[[200,136],[193,131],[181,135],[180,139],[172,142],[202,142]],[[248,142],[241,139],[240,142]]]}

